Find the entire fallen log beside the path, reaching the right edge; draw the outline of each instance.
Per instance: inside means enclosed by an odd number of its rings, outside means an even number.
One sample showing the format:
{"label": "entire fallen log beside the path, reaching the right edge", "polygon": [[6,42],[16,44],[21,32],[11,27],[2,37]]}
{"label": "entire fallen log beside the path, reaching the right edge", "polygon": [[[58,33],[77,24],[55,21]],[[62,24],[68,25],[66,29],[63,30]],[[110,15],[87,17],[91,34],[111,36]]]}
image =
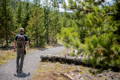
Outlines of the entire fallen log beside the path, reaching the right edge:
{"label": "entire fallen log beside the path, reaching the right edge", "polygon": [[97,69],[112,69],[113,71],[120,71],[120,67],[116,66],[102,66],[102,65],[95,65],[91,64],[89,60],[84,61],[81,58],[76,58],[76,57],[70,57],[70,56],[40,56],[42,62],[50,61],[50,62],[60,62],[60,63],[65,63],[65,64],[75,64],[75,65],[83,65],[87,67],[94,67]]}

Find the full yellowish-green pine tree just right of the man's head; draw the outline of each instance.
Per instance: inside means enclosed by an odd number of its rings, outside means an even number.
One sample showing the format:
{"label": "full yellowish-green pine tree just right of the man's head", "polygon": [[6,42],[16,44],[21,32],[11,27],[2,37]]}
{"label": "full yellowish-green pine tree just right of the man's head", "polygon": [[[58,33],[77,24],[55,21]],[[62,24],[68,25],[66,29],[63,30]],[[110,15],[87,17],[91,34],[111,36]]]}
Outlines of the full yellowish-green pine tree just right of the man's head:
{"label": "full yellowish-green pine tree just right of the man's head", "polygon": [[32,46],[43,46],[45,44],[44,10],[39,5],[39,2],[35,1],[31,12],[31,17],[26,29],[27,34],[33,43]]}

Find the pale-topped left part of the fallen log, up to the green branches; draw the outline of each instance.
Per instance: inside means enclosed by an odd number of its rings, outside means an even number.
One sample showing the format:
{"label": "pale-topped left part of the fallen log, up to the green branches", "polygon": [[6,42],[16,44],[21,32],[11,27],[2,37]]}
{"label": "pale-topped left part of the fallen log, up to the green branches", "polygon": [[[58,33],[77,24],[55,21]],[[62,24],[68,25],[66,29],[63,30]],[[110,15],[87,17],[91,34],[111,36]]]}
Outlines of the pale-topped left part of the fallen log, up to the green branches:
{"label": "pale-topped left part of the fallen log, up to the green branches", "polygon": [[70,57],[70,56],[41,56],[41,61],[50,61],[50,62],[60,62],[60,63],[67,63],[67,64],[75,64],[75,65],[87,65],[92,66],[89,63],[85,63],[80,58]]}

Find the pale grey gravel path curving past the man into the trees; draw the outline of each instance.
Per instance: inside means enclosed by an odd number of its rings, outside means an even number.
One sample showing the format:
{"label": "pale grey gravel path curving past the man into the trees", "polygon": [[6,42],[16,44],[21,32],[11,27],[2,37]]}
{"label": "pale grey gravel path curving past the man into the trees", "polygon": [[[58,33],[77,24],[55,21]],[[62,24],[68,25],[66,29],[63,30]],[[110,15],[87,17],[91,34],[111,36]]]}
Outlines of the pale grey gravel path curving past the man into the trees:
{"label": "pale grey gravel path curving past the man into the trees", "polygon": [[27,54],[24,60],[23,73],[19,75],[16,74],[16,60],[10,60],[7,64],[0,66],[0,80],[31,80],[38,69],[40,55],[59,55],[64,50],[63,46],[59,46]]}

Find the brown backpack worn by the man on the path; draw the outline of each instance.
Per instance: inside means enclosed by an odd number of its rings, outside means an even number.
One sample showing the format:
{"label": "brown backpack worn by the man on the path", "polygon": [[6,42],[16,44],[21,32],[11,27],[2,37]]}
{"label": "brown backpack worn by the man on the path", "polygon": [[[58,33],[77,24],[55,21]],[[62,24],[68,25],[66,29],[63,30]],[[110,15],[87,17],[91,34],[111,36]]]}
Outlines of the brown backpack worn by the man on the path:
{"label": "brown backpack worn by the man on the path", "polygon": [[17,48],[25,48],[25,37],[24,35],[17,36]]}

